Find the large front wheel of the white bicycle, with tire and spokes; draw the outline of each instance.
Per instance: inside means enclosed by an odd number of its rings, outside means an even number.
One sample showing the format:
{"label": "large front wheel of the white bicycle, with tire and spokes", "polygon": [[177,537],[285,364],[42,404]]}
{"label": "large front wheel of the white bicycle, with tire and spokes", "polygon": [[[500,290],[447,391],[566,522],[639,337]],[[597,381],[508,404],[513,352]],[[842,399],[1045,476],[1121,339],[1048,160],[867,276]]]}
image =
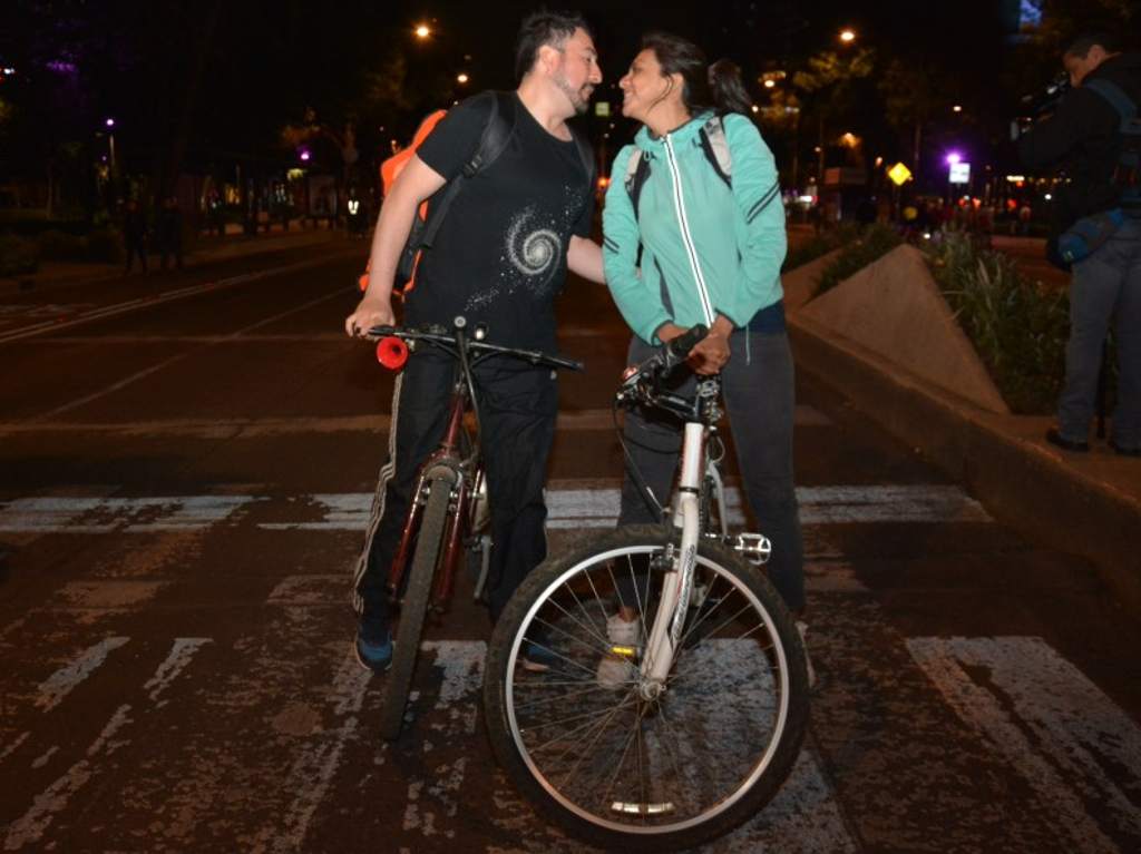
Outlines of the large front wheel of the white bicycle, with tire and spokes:
{"label": "large front wheel of the white bicycle, with tire and spokes", "polygon": [[[548,560],[516,591],[488,646],[484,710],[496,759],[542,816],[606,849],[689,848],[738,827],[779,790],[808,725],[806,657],[792,617],[758,568],[714,542],[698,547],[698,571],[715,585],[706,599],[712,604],[702,605],[711,610],[702,616],[697,609],[687,618],[686,642],[677,653],[664,699],[656,708],[650,703],[636,708],[629,705],[630,698],[638,699],[632,681],[617,691],[601,686],[593,668],[600,644],[608,642],[598,635],[605,633],[607,612],[616,610],[597,607],[606,593],[606,575],[617,589],[613,561],[626,559],[633,579],[633,556],[653,558],[674,539],[662,527],[620,528]],[[646,602],[637,594],[640,611],[645,604],[645,643],[653,619],[654,575],[662,572],[638,571],[649,579]],[[736,616],[723,621],[733,632],[726,634],[718,625],[738,603],[755,612],[761,632],[748,629],[734,637]],[[726,610],[718,613],[721,608]],[[747,628],[748,613],[742,613]],[[705,628],[698,632],[703,621]],[[523,644],[543,633],[557,665],[544,674],[517,670]],[[583,674],[585,669],[589,674]],[[738,689],[744,702],[731,696],[727,675],[744,676]],[[544,721],[544,714],[561,719]],[[675,738],[671,718],[689,727],[682,739]],[[629,734],[624,719],[632,723]],[[553,731],[556,726],[568,731]],[[616,739],[610,729],[617,731]],[[628,763],[634,742],[637,763]],[[628,775],[622,775],[624,770]],[[638,778],[636,784],[629,772]],[[697,790],[721,788],[722,779],[725,791],[706,803]],[[636,789],[637,798],[628,799],[625,792]],[[688,810],[690,802],[694,807]]]}

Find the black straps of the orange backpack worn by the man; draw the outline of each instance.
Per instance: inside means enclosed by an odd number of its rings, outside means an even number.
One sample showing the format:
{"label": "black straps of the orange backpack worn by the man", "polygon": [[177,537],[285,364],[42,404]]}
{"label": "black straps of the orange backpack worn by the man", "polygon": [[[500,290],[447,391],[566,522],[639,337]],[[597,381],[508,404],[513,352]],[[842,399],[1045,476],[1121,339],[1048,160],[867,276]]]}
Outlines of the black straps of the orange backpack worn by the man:
{"label": "black straps of the orange backpack worn by the man", "polygon": [[[400,257],[396,263],[396,283],[394,290],[404,291],[415,275],[416,263],[420,261],[421,252],[431,249],[436,241],[436,234],[444,223],[448,208],[463,189],[463,186],[479,173],[487,169],[507,148],[515,131],[516,121],[516,97],[515,92],[480,92],[474,100],[491,101],[491,112],[487,116],[487,124],[484,125],[483,136],[479,138],[479,146],[471,158],[464,164],[458,176],[447,182],[445,187],[437,192],[428,205],[428,219],[420,219],[416,215],[412,220],[412,230],[408,239],[400,251]],[[574,129],[570,130],[578,148],[578,156],[582,158],[583,169],[591,187],[594,186],[594,154],[590,144],[583,139]]]}

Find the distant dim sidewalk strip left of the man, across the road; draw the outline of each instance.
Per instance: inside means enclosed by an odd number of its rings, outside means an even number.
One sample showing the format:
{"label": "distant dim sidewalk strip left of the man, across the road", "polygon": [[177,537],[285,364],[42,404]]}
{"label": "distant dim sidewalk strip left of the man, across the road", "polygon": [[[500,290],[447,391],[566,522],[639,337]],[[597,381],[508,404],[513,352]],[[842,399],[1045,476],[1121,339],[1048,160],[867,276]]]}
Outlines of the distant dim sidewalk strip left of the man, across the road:
{"label": "distant dim sidewalk strip left of the man, across the road", "polygon": [[[236,258],[304,249],[306,246],[326,246],[343,244],[346,247],[358,246],[362,254],[366,252],[364,241],[348,237],[343,229],[301,228],[293,223],[289,231],[282,231],[278,226],[274,230],[259,231],[257,235],[245,235],[230,230],[224,237],[216,235],[201,236],[192,252],[186,254],[185,270],[193,270],[218,261]],[[160,277],[177,273],[175,269],[161,270],[159,254],[152,253],[149,273],[145,276],[138,271],[129,276],[123,274],[123,263],[76,263],[67,261],[41,261],[34,274],[0,278],[0,298],[14,294],[35,294],[54,291],[60,287],[84,286],[111,282],[157,283]],[[363,269],[363,268],[362,268]]]}

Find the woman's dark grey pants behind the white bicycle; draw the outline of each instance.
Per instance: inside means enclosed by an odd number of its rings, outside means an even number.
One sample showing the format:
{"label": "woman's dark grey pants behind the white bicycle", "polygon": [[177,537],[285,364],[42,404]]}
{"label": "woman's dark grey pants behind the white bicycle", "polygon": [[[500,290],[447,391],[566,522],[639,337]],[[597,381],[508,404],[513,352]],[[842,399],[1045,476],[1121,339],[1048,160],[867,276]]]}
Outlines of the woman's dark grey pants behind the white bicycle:
{"label": "woman's dark grey pants behind the white bicycle", "polygon": [[[729,361],[721,371],[721,391],[745,496],[761,532],[772,542],[767,564],[769,580],[785,604],[792,611],[800,611],[804,608],[804,556],[793,485],[795,389],[788,335],[739,330],[729,337]],[[649,358],[653,351],[636,337],[630,343],[630,364]],[[678,389],[690,393],[696,379],[686,368],[678,374],[681,380]],[[679,422],[670,416],[632,412],[626,415],[624,436],[646,485],[663,506],[669,506],[681,449]],[[657,521],[628,472],[622,483],[618,523]]]}

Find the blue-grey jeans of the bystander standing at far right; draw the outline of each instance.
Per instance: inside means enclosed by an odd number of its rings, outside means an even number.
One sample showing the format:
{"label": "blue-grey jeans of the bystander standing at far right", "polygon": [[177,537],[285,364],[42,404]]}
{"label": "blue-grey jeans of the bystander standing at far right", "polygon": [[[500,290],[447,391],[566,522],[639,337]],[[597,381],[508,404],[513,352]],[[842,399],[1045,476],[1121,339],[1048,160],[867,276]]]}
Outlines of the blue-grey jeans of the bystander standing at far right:
{"label": "blue-grey jeans of the bystander standing at far right", "polygon": [[1125,223],[1073,268],[1066,385],[1058,402],[1058,430],[1086,441],[1101,368],[1101,349],[1114,323],[1117,342],[1117,407],[1112,440],[1141,448],[1141,219]]}

